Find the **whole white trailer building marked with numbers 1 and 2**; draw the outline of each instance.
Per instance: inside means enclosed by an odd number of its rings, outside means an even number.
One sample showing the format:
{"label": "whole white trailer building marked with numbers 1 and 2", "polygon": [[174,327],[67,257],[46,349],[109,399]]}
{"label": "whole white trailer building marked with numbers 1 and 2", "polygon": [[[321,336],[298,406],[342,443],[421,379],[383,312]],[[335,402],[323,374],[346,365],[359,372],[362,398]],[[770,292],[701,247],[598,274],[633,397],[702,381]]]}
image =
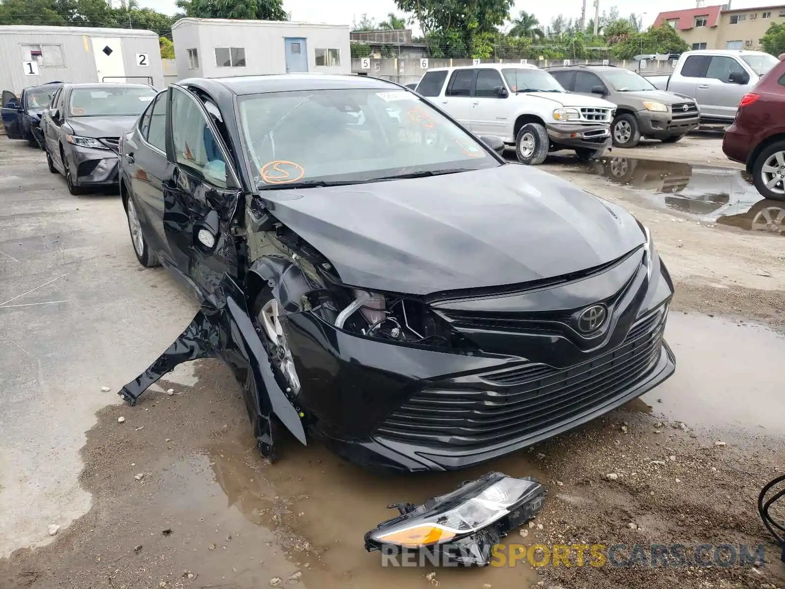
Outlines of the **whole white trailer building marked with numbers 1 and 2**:
{"label": "whole white trailer building marked with numbers 1 and 2", "polygon": [[142,29],[0,26],[0,90],[46,82],[163,88],[158,35]]}

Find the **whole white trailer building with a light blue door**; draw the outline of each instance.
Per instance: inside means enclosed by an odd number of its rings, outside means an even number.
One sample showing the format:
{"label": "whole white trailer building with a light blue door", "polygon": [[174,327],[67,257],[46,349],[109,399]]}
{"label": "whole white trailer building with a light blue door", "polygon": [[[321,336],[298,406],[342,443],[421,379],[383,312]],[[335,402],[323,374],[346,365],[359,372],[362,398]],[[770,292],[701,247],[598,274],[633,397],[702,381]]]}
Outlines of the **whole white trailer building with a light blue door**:
{"label": "whole white trailer building with a light blue door", "polygon": [[183,18],[172,26],[177,76],[350,74],[349,29],[286,20]]}

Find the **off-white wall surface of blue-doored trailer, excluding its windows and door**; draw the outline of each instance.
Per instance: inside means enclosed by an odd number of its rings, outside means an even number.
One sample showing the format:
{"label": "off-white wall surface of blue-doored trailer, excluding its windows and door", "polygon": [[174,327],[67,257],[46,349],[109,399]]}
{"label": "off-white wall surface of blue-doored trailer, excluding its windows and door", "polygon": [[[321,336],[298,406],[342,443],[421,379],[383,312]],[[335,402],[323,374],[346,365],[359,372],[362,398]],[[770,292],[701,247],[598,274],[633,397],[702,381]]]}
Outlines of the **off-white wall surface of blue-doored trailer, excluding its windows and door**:
{"label": "off-white wall surface of blue-doored trailer, excluding its windows and door", "polygon": [[[290,23],[272,20],[178,20],[172,28],[177,75],[181,79],[192,76],[221,78],[236,75],[285,74],[285,37],[304,37],[308,51],[308,69],[311,72],[349,74],[351,50],[349,26],[332,24]],[[246,66],[243,68],[217,68],[216,47],[243,47]],[[199,68],[188,69],[188,49],[199,52]],[[317,66],[316,49],[340,49],[339,66]]]}

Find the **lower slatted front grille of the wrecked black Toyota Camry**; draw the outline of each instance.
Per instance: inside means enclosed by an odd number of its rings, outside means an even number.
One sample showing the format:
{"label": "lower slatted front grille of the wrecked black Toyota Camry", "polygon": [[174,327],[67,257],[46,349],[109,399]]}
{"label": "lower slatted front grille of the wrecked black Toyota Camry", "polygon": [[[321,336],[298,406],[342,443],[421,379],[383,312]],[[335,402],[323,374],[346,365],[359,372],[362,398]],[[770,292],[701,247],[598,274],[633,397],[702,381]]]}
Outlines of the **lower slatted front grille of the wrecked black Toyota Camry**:
{"label": "lower slatted front grille of the wrecked black Toyota Camry", "polygon": [[663,328],[663,313],[652,313],[620,346],[570,368],[527,364],[479,375],[487,388],[466,380],[462,386],[461,378],[432,386],[409,398],[376,433],[429,447],[476,448],[569,423],[623,397],[654,368]]}

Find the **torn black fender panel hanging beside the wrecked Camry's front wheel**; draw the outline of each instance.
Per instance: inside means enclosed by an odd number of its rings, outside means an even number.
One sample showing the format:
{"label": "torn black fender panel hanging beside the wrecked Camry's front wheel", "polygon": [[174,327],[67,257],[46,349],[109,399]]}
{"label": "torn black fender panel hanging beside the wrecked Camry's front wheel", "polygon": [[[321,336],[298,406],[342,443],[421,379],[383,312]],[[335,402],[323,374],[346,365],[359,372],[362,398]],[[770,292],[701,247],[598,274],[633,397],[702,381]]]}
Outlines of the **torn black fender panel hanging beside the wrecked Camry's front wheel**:
{"label": "torn black fender panel hanging beside the wrecked Camry's front wheel", "polygon": [[[248,315],[243,291],[225,276],[221,283],[221,306],[203,306],[181,335],[147,370],[122,387],[119,395],[128,403],[137,399],[154,382],[178,364],[198,358],[223,360],[243,386],[246,406],[260,444],[272,452],[272,416],[303,444],[306,443],[298,409],[280,389],[267,352]],[[266,453],[265,453],[266,454]]]}

